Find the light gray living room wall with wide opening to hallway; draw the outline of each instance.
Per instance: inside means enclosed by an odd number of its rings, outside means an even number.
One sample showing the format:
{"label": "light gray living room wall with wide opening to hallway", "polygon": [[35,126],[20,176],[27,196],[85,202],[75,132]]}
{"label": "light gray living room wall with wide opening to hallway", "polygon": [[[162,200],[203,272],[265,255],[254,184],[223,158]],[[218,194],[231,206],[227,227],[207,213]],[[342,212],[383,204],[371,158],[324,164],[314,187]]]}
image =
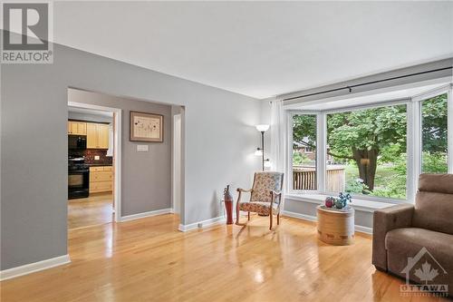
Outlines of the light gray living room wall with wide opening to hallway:
{"label": "light gray living room wall with wide opening to hallway", "polygon": [[1,66],[1,269],[67,253],[68,87],[185,106],[182,223],[219,216],[227,183],[251,185],[259,169],[258,101],[62,45],[53,49],[53,64]]}

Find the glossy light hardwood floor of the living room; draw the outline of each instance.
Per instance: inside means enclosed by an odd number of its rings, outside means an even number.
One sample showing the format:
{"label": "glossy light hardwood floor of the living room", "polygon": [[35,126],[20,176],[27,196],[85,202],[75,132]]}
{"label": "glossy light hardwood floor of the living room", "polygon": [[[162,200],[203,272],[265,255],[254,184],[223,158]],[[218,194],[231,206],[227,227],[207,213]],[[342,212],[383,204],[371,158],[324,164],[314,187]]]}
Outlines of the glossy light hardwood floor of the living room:
{"label": "glossy light hardwood floor of the living room", "polygon": [[13,301],[441,301],[400,297],[371,266],[371,239],[334,247],[311,222],[283,218],[268,230],[218,225],[182,233],[161,215],[69,231],[72,263],[1,282]]}

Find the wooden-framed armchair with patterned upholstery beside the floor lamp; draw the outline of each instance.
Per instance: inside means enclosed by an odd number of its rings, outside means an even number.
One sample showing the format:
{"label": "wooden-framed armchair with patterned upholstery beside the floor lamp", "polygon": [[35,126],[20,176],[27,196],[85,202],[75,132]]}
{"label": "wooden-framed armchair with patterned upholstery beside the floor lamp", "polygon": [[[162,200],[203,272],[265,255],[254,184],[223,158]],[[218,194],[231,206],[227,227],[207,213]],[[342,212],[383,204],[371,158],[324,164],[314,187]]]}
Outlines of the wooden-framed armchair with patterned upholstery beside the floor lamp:
{"label": "wooden-framed armchair with patterned upholstery beside the floor lamp", "polygon": [[[239,213],[241,210],[258,213],[261,216],[269,216],[269,229],[272,229],[272,220],[274,215],[277,216],[277,225],[280,224],[280,210],[282,203],[284,173],[280,172],[255,172],[254,184],[252,189],[237,189],[239,195],[236,202],[236,225],[245,225],[239,223]],[[241,201],[242,193],[250,192],[249,201]]]}

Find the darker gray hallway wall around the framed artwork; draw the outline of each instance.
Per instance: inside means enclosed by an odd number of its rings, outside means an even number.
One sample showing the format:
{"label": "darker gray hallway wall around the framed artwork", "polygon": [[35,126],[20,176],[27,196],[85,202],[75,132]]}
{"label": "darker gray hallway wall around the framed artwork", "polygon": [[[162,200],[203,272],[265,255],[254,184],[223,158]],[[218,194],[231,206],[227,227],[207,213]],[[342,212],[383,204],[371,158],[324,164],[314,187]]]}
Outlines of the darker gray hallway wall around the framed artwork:
{"label": "darker gray hallway wall around the framed artwork", "polygon": [[[135,101],[102,93],[68,90],[69,102],[122,109],[121,216],[171,207],[171,106]],[[130,111],[164,116],[164,141],[129,141]],[[138,152],[137,145],[149,145]]]}

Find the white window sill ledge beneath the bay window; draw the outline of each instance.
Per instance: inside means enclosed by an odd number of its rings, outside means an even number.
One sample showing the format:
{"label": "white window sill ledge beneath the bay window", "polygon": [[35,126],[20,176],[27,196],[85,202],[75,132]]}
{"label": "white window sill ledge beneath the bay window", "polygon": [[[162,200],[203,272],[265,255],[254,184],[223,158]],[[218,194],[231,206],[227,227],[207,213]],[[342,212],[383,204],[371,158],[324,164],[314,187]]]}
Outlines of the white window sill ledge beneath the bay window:
{"label": "white window sill ledge beneath the bay window", "polygon": [[[295,201],[304,201],[304,202],[311,202],[316,204],[321,204],[325,200],[328,195],[323,194],[285,194],[285,200],[295,200]],[[365,212],[373,212],[375,209],[384,209],[391,206],[394,206],[395,203],[393,202],[382,202],[382,201],[372,201],[372,200],[358,200],[352,199],[351,206],[353,209],[365,211]]]}

